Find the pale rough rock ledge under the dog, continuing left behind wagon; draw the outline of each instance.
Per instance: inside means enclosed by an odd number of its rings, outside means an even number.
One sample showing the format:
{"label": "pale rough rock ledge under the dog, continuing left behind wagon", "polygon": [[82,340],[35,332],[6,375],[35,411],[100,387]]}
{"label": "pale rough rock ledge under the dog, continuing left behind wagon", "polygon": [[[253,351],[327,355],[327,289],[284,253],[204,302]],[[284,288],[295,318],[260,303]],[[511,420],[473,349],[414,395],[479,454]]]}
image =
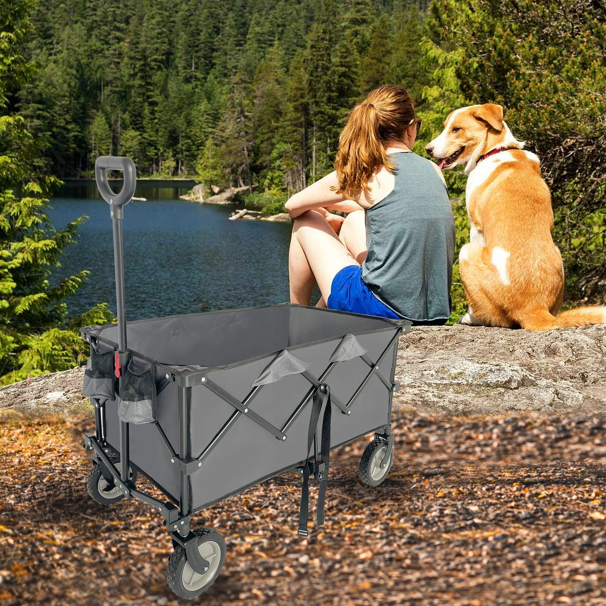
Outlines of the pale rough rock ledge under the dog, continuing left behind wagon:
{"label": "pale rough rock ledge under the dog, continuing left behind wagon", "polygon": [[[83,368],[0,388],[0,417],[92,415]],[[415,327],[401,338],[394,407],[475,415],[606,411],[606,326],[533,333],[467,326]]]}

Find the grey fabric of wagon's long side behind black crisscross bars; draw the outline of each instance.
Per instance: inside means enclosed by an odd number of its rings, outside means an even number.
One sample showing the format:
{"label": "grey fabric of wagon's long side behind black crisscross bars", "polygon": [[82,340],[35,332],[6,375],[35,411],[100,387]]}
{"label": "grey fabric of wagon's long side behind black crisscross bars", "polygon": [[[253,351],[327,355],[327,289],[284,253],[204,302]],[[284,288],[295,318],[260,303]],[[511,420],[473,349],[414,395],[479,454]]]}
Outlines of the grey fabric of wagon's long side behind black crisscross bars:
{"label": "grey fabric of wagon's long side behind black crisscross bars", "polygon": [[[359,336],[368,355],[375,361],[395,335],[396,330],[381,330]],[[330,341],[296,347],[293,355],[310,364],[309,371],[316,378],[328,365],[328,359],[341,341]],[[208,379],[219,385],[239,401],[251,390],[251,383],[271,362],[274,356],[225,370],[208,373]],[[384,374],[391,374],[393,356],[387,356]],[[341,367],[341,368],[339,368]],[[370,370],[360,359],[339,363],[327,379],[331,389],[346,403]],[[302,375],[285,376],[277,382],[264,385],[250,404],[250,410],[281,429],[305,394],[310,382]],[[378,378],[373,377],[353,405],[351,415],[341,415],[333,405],[333,437],[331,444],[351,441],[389,422],[391,393]],[[204,451],[213,437],[234,413],[235,408],[203,385],[191,389],[191,454],[196,457]],[[304,461],[307,450],[307,430],[311,415],[311,402],[288,428],[284,442],[245,415],[240,415],[230,430],[207,456],[201,470],[191,477],[194,510],[256,484],[262,478],[279,473]]]}

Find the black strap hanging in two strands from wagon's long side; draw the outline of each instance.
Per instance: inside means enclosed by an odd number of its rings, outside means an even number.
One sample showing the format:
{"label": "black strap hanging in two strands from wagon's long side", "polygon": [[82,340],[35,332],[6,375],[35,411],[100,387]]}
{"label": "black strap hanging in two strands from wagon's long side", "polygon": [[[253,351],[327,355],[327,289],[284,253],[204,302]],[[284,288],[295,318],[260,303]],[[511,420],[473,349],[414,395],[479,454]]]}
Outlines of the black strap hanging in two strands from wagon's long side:
{"label": "black strap hanging in two strands from wagon's long side", "polygon": [[[324,417],[322,418],[322,438],[321,438],[321,455],[322,462],[324,462],[324,475],[320,481],[320,488],[318,492],[318,511],[317,511],[317,525],[322,526],[324,524],[324,502],[326,500],[326,487],[328,484],[328,459],[330,457],[330,420],[332,413],[332,404],[330,402],[330,387],[322,384],[316,389],[316,393],[313,395],[313,404],[311,405],[311,416],[309,421],[309,428],[307,430],[307,454],[311,450],[311,444],[313,443],[313,437],[318,427],[318,419],[320,418],[320,412],[322,406],[326,404],[324,409]],[[317,463],[318,461],[316,461]],[[303,468],[303,484],[301,486],[301,510],[299,511],[299,530],[298,534],[301,536],[309,536],[307,531],[307,518],[309,513],[309,476],[310,476],[310,465],[308,461],[305,461]]]}

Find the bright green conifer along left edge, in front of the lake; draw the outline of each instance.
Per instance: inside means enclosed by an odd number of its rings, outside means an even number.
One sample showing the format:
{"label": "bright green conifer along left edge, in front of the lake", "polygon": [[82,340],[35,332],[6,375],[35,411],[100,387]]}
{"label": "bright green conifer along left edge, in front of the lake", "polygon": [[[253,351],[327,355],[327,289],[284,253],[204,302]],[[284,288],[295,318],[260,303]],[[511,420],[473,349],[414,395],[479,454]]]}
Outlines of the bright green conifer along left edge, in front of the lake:
{"label": "bright green conifer along left edge, in front of the lake", "polygon": [[[52,284],[52,268],[73,241],[84,218],[56,231],[45,212],[58,179],[39,174],[39,148],[24,119],[10,112],[8,99],[32,73],[21,53],[28,32],[27,0],[0,5],[0,382],[69,368],[83,350],[75,324],[107,321],[107,305],[84,317],[67,316],[65,298],[87,272]],[[15,66],[14,70],[12,66]]]}

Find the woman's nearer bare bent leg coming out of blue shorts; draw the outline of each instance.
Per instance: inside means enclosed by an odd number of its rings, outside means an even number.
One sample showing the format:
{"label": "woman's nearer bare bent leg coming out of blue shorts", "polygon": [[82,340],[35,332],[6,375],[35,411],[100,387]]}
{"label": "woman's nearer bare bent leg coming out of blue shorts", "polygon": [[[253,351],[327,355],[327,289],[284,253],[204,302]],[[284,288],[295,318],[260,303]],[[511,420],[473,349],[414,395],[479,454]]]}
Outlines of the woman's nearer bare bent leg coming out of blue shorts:
{"label": "woman's nearer bare bent leg coming out of blue shorts", "polygon": [[308,210],[295,219],[288,256],[290,301],[309,305],[317,283],[328,301],[333,278],[347,265],[358,265],[324,217]]}

